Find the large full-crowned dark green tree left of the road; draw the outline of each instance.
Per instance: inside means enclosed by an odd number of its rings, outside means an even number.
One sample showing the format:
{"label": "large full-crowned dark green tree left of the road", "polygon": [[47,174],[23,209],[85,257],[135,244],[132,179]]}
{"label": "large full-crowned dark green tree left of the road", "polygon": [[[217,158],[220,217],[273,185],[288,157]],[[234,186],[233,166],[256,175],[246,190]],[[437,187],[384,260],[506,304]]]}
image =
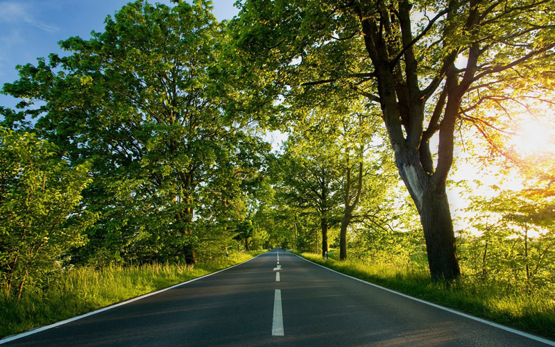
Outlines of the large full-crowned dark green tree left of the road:
{"label": "large full-crowned dark green tree left of the road", "polygon": [[237,200],[262,163],[268,146],[249,119],[228,112],[239,96],[210,9],[202,0],[129,3],[90,40],[60,42],[69,56],[20,67],[19,81],[3,87],[26,99],[6,123],[31,115],[70,160],[94,162],[85,198],[103,218],[91,246],[142,260],[179,251],[193,263],[196,212]]}

